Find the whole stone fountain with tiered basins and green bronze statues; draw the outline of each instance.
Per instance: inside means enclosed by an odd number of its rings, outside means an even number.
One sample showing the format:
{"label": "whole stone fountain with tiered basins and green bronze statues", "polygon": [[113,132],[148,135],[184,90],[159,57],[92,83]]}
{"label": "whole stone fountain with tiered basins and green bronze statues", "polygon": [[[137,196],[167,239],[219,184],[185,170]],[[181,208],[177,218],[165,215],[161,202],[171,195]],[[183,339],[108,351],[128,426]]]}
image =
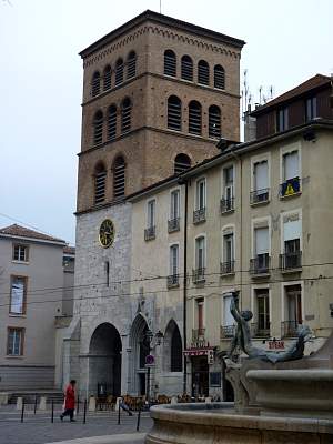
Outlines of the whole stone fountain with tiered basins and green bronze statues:
{"label": "whole stone fountain with tiered basins and green bronze statues", "polygon": [[[252,344],[252,313],[239,310],[238,292],[231,313],[236,329],[224,361],[235,402],[154,406],[145,443],[333,443],[333,333],[306,357],[306,326],[285,352],[265,352]],[[248,357],[241,361],[239,350]]]}

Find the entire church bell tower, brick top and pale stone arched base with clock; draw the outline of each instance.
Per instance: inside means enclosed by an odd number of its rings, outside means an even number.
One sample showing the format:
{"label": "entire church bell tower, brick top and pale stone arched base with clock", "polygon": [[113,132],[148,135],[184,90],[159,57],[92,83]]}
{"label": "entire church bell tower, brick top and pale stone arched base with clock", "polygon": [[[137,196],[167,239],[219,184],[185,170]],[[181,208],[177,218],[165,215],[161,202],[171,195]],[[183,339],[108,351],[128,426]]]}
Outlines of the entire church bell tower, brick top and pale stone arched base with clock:
{"label": "entire church bell tower, brick top and pale stone arched base with clock", "polygon": [[[82,395],[100,384],[112,395],[145,394],[147,383],[182,391],[181,292],[168,307],[163,293],[132,291],[151,276],[132,268],[133,239],[143,233],[128,198],[218,154],[221,137],[239,141],[243,44],[145,11],[81,52],[74,314],[62,374],[78,380]],[[147,355],[163,353],[173,364],[157,359],[148,382]]]}

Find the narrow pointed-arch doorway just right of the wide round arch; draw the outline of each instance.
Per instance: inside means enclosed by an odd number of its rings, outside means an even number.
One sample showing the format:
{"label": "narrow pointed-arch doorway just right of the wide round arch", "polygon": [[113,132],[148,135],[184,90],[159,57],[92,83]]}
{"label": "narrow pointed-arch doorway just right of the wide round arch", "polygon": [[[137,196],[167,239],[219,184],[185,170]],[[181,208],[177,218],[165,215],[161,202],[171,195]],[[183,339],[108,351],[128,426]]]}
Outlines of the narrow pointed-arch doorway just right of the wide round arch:
{"label": "narrow pointed-arch doorway just right of the wide round arch", "polygon": [[138,314],[130,333],[132,351],[130,392],[138,395],[144,395],[147,391],[145,356],[150,353],[150,343],[147,335],[148,330],[149,327],[144,317]]}

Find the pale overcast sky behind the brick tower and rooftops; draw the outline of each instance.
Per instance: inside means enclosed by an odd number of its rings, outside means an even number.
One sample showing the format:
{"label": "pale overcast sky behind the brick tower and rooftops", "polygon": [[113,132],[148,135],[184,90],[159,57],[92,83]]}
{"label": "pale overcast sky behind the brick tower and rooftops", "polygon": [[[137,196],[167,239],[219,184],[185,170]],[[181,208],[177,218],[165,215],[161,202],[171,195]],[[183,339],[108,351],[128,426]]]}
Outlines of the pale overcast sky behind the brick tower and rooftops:
{"label": "pale overcast sky behind the brick tower and rooftops", "polygon": [[[74,242],[82,63],[78,52],[159,0],[0,0],[0,226]],[[333,71],[332,0],[162,0],[162,13],[246,41],[254,100]],[[8,219],[8,216],[12,218]]]}

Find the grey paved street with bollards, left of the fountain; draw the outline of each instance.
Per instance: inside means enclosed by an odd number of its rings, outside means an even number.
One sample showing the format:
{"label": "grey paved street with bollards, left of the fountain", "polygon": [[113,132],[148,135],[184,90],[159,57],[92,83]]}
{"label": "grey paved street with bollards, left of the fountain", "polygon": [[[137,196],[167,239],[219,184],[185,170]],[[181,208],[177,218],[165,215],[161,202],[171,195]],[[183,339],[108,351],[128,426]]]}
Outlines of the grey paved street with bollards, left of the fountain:
{"label": "grey paved street with bollards, left of the fountain", "polygon": [[[82,424],[82,413],[75,423],[59,418],[60,408],[57,406],[54,423],[51,423],[51,412],[33,414],[32,406],[28,406],[24,422],[21,423],[20,412],[13,407],[0,408],[0,444],[47,444],[65,440],[75,440],[89,436],[104,436],[115,434],[137,434],[137,412],[133,416],[121,413],[121,424],[118,425],[118,414],[114,412],[89,413],[87,424]],[[140,433],[148,432],[152,426],[149,413],[141,415]]]}

